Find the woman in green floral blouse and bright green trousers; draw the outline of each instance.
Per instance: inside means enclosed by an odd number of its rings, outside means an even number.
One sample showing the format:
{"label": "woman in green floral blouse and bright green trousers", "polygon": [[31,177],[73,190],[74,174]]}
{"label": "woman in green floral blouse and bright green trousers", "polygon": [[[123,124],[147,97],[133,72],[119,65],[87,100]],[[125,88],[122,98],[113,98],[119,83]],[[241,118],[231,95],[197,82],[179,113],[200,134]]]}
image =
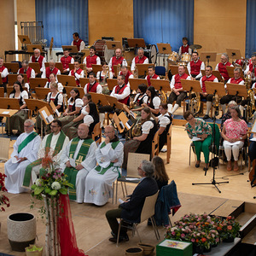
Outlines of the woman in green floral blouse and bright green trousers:
{"label": "woman in green floral blouse and bright green trousers", "polygon": [[198,168],[201,162],[201,151],[205,157],[204,171],[209,167],[209,147],[212,142],[212,128],[203,119],[195,119],[191,111],[186,111],[183,118],[188,121],[185,125],[185,130],[188,132],[189,138],[192,139],[195,145],[195,154],[197,161],[195,167]]}

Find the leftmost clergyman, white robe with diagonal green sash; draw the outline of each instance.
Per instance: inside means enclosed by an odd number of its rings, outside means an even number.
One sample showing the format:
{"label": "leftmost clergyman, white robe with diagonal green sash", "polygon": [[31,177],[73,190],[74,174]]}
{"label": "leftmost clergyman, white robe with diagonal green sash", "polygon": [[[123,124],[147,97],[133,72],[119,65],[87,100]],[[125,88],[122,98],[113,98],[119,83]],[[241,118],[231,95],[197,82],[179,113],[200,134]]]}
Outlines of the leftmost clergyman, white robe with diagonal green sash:
{"label": "leftmost clergyman, white robe with diagonal green sash", "polygon": [[14,144],[14,152],[11,158],[4,164],[5,187],[9,193],[19,194],[25,192],[22,188],[26,166],[38,158],[38,148],[41,138],[34,130],[34,123],[26,119],[24,133],[20,134]]}

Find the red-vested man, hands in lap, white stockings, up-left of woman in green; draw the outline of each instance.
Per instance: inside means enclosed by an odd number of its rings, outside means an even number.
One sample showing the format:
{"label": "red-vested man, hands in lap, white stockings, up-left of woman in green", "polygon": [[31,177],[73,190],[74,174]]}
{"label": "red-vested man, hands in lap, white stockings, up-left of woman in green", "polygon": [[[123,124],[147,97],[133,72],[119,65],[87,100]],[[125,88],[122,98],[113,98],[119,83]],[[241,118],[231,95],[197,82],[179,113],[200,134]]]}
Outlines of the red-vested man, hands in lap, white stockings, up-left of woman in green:
{"label": "red-vested man, hands in lap, white stockings, up-left of woman in green", "polygon": [[[183,86],[181,84],[181,79],[190,80],[189,75],[185,73],[185,67],[183,65],[178,66],[177,74],[172,76],[171,81],[171,94],[168,99],[168,112],[174,113],[178,107],[181,106],[181,102],[187,96],[187,92],[183,91]],[[172,108],[172,103],[176,101],[174,107]]]}

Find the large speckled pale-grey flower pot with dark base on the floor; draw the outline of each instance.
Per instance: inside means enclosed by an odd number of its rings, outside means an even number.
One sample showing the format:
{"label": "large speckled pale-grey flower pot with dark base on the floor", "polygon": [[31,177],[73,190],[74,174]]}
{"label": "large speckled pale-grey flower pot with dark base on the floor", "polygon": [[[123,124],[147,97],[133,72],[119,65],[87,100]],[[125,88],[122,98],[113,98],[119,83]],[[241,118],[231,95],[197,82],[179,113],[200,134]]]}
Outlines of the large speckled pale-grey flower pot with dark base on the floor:
{"label": "large speckled pale-grey flower pot with dark base on the floor", "polygon": [[7,219],[7,234],[13,251],[25,252],[36,239],[37,222],[31,213],[14,213]]}

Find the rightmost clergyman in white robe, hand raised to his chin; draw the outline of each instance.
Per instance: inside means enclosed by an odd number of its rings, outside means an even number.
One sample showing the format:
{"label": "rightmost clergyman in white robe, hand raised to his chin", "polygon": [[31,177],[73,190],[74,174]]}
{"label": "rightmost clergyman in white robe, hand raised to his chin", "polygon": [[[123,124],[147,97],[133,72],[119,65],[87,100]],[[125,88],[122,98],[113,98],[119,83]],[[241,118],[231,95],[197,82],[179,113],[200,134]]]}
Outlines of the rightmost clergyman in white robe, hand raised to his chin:
{"label": "rightmost clergyman in white robe, hand raised to his chin", "polygon": [[114,135],[112,125],[105,127],[106,139],[96,149],[98,166],[85,180],[84,202],[103,206],[108,202],[112,183],[119,177],[124,158],[124,145]]}

